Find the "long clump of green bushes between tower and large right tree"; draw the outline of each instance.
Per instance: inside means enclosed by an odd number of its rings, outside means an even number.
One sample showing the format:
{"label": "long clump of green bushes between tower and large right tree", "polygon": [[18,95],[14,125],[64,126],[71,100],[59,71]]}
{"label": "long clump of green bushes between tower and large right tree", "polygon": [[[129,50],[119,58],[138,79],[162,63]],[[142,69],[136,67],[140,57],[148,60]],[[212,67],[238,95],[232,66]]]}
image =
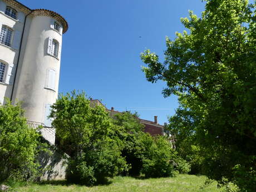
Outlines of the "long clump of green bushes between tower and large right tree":
{"label": "long clump of green bushes between tower and large right tree", "polygon": [[61,95],[51,117],[60,146],[71,155],[66,171],[70,183],[90,186],[117,174],[157,178],[189,171],[170,141],[143,132],[136,114],[124,112],[112,119],[83,92]]}

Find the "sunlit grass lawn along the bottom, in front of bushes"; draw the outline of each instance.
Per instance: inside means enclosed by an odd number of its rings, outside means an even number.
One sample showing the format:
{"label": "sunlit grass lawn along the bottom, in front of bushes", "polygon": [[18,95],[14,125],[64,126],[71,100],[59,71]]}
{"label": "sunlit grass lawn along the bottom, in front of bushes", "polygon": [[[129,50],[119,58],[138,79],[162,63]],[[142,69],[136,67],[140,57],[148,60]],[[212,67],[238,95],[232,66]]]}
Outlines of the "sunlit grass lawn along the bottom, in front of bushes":
{"label": "sunlit grass lawn along the bottom, in front of bushes", "polygon": [[100,186],[80,186],[67,185],[65,181],[53,181],[51,183],[41,184],[14,184],[13,188],[18,192],[219,192],[224,189],[218,189],[216,183],[204,186],[205,176],[179,174],[174,178],[158,178],[158,179],[135,179],[131,177],[116,176],[109,185]]}

